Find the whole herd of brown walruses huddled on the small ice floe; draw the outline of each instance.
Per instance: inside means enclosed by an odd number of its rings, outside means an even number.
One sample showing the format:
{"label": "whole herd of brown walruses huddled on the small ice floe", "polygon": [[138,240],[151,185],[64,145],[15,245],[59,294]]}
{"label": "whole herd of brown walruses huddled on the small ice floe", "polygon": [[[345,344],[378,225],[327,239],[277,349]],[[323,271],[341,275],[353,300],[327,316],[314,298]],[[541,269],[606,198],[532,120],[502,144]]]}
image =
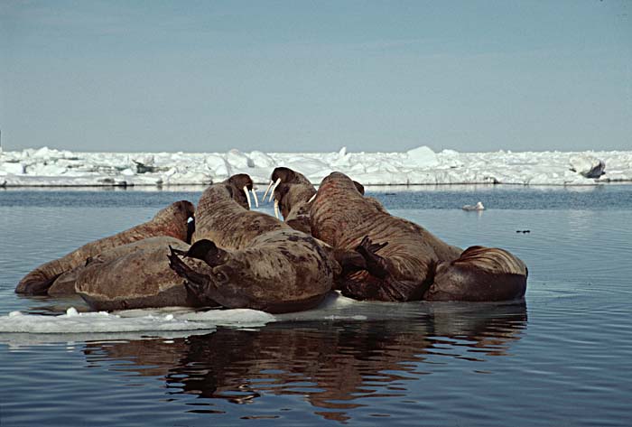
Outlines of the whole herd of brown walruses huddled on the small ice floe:
{"label": "whole herd of brown walruses huddled on the small ice floe", "polygon": [[144,224],[37,267],[15,292],[77,293],[107,311],[272,313],[311,309],[332,290],[385,302],[524,298],[528,272],[515,255],[451,246],[389,214],[343,173],[332,172],[316,190],[301,173],[276,168],[265,198],[274,200],[276,218],[251,210],[259,204],[253,181],[233,175],[204,190],[197,208],[177,201]]}

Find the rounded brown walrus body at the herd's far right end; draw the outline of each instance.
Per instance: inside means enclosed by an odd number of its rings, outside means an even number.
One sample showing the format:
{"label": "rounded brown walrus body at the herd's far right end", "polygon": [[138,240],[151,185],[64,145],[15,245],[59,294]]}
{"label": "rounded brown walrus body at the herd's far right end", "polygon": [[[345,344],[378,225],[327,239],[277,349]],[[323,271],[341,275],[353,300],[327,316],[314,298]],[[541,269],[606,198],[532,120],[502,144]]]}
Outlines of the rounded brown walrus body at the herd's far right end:
{"label": "rounded brown walrus body at the herd's far right end", "polygon": [[493,302],[523,298],[528,271],[517,256],[496,247],[470,246],[437,265],[427,301]]}

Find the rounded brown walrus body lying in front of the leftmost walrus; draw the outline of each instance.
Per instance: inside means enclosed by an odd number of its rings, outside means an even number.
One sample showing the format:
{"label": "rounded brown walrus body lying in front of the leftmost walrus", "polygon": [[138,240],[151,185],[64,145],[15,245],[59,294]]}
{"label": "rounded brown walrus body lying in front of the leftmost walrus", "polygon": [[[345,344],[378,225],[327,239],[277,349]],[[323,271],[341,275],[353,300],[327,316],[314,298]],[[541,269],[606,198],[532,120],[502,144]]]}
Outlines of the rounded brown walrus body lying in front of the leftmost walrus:
{"label": "rounded brown walrus body lying in front of the leftmost walrus", "polygon": [[[121,250],[128,247],[127,253]],[[101,311],[149,307],[201,307],[184,286],[184,279],[169,267],[170,247],[188,250],[173,237],[153,237],[119,246],[119,256],[98,256],[77,269],[75,288],[88,305]]]}

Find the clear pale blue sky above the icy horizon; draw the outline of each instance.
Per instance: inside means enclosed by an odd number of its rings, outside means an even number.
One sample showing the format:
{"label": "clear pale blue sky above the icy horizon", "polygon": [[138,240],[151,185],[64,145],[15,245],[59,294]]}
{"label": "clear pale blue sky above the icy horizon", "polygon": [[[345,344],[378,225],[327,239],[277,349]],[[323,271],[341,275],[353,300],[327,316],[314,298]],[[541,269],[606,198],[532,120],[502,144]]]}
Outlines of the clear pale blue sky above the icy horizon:
{"label": "clear pale blue sky above the icy horizon", "polygon": [[5,150],[632,150],[632,2],[0,1]]}

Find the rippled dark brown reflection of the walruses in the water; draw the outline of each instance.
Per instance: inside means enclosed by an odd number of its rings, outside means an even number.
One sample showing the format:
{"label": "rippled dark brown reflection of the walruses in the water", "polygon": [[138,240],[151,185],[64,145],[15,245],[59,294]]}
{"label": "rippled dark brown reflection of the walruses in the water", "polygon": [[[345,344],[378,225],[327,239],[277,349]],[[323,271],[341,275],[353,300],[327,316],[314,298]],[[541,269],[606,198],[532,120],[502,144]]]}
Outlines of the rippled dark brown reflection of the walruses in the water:
{"label": "rippled dark brown reflection of the walruses in the water", "polygon": [[162,377],[172,397],[196,395],[187,403],[195,413],[218,413],[217,399],[302,395],[314,413],[345,421],[367,398],[410,395],[410,380],[455,358],[510,356],[525,327],[524,302],[437,304],[415,319],[272,323],[182,339],[88,342],[84,352],[90,367]]}

